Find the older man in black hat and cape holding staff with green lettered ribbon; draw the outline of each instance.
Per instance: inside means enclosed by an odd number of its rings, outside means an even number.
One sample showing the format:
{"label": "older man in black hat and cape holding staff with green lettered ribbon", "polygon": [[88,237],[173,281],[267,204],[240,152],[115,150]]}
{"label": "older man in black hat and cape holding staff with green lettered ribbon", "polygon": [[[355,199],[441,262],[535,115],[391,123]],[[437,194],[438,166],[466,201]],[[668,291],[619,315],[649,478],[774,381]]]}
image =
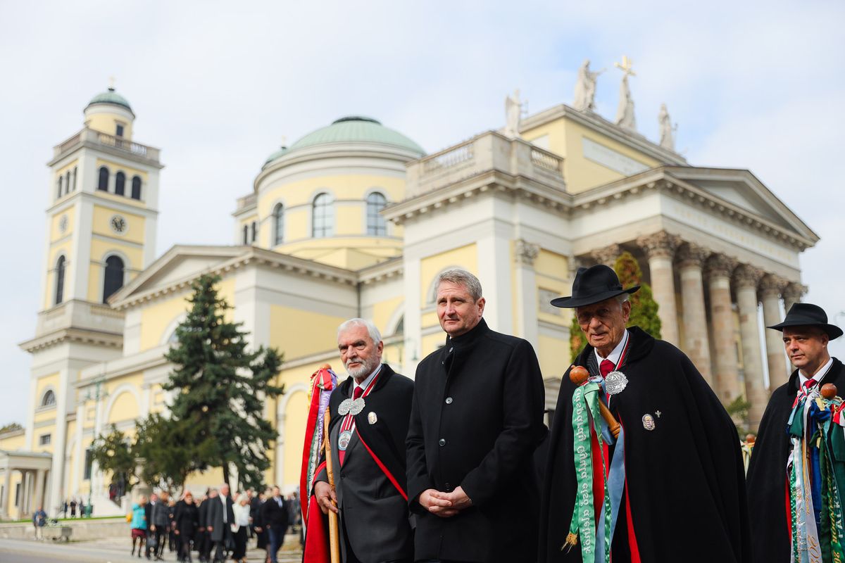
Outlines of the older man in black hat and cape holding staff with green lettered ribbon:
{"label": "older man in black hat and cape holding staff with green lettered ribbon", "polygon": [[[552,301],[575,309],[588,342],[575,365],[590,379],[576,386],[570,366],[560,387],[538,559],[581,561],[583,550],[598,563],[610,549],[614,561],[749,561],[736,428],[683,352],[625,328],[636,290],[598,265],[579,268],[572,295]],[[608,406],[619,436],[599,416],[596,432],[590,401]]]}

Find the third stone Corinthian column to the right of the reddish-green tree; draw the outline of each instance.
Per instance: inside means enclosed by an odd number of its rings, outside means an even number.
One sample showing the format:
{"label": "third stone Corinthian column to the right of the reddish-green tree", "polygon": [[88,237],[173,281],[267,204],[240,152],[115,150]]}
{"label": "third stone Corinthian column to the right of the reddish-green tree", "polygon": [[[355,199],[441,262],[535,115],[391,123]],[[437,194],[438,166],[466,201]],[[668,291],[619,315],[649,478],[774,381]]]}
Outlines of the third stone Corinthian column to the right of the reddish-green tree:
{"label": "third stone Corinthian column to the right of the reddish-green tree", "polygon": [[731,273],[736,262],[724,254],[707,260],[706,272],[710,290],[710,318],[713,328],[711,342],[716,355],[713,381],[722,403],[739,397],[739,357],[733,338],[733,310],[731,308]]}

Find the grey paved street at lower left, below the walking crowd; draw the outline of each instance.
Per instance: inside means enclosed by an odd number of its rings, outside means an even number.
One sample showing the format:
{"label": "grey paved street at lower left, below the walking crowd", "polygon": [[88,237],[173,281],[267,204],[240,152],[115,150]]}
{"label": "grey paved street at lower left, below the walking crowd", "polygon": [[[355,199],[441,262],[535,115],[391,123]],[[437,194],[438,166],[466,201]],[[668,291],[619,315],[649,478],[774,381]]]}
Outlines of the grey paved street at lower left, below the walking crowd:
{"label": "grey paved street at lower left, below the walking crowd", "polygon": [[[134,563],[146,561],[132,557],[129,539],[101,539],[70,544],[42,544],[24,539],[0,539],[0,563],[53,563],[57,561],[88,561],[89,563]],[[196,560],[194,554],[194,560]],[[165,551],[166,561],[175,561],[176,555]],[[299,563],[301,551],[280,551],[279,563]],[[264,561],[264,551],[250,549],[248,560]]]}

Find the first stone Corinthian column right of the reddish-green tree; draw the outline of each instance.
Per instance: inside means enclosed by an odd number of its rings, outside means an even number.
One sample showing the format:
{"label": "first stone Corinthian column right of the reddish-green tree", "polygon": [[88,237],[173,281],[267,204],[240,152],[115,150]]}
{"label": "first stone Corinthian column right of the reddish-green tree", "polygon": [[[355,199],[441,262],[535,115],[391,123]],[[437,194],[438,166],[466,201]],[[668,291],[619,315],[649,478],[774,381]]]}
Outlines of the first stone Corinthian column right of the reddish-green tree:
{"label": "first stone Corinthian column right of the reddish-green tree", "polygon": [[651,292],[657,301],[660,315],[660,334],[663,340],[680,345],[678,307],[675,305],[675,273],[672,259],[680,239],[665,230],[641,236],[636,243],[646,252],[651,270]]}

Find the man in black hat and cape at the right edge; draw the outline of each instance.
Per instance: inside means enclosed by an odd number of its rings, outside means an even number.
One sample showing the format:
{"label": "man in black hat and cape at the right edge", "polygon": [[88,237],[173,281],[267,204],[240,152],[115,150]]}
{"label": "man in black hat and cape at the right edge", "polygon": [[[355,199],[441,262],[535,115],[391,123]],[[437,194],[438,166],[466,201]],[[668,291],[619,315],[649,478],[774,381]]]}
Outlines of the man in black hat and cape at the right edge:
{"label": "man in black hat and cape at the right edge", "polygon": [[811,393],[826,383],[845,392],[845,367],[831,358],[827,343],[842,329],[827,322],[825,311],[810,303],[796,303],[780,324],[789,361],[796,370],[789,381],[771,393],[748,468],[748,498],[754,560],[771,563],[790,559],[787,506],[787,462],[790,446],[787,422],[799,392]]}

